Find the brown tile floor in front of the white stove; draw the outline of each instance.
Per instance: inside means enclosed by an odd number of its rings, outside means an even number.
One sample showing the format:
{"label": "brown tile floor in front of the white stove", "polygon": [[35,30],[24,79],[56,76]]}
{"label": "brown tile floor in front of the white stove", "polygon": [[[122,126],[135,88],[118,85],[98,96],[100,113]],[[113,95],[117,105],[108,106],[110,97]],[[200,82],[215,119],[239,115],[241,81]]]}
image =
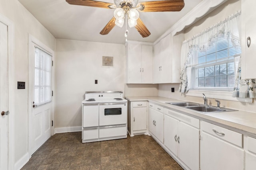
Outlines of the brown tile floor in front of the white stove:
{"label": "brown tile floor in front of the white stove", "polygon": [[81,132],[52,136],[22,170],[183,170],[148,135],[92,143]]}

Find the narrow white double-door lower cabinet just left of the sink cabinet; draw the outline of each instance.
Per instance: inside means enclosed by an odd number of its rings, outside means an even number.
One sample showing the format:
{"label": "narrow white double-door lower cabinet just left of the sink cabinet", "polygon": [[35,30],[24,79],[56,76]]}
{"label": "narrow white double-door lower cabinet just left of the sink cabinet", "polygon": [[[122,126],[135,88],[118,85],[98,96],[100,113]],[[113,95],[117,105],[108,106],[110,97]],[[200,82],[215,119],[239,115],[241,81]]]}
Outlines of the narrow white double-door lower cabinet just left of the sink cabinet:
{"label": "narrow white double-door lower cabinet just left of the sink cabinet", "polygon": [[148,130],[158,141],[164,143],[164,107],[149,103]]}

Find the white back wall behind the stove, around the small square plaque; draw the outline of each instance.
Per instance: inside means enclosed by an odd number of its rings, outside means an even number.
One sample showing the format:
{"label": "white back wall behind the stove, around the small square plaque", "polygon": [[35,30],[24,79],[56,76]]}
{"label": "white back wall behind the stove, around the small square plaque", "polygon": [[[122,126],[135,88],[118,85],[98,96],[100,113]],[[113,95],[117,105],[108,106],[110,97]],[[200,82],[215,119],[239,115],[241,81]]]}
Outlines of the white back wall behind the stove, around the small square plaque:
{"label": "white back wall behind the stove, around the small square plaque", "polygon": [[[114,67],[102,66],[102,56],[114,57]],[[125,46],[121,44],[56,39],[57,131],[82,126],[82,100],[86,91],[124,91],[125,57]]]}

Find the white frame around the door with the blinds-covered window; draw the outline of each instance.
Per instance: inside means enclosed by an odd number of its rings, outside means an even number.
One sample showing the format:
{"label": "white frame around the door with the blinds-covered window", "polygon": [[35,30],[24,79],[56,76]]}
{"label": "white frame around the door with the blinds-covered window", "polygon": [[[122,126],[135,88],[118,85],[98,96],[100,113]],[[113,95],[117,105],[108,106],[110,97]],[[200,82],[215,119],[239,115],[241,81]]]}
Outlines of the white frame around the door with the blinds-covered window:
{"label": "white frame around the door with the blinds-covered window", "polygon": [[[28,34],[28,154],[29,154],[29,158],[31,158],[32,154],[34,154],[32,148],[31,148],[31,143],[32,143],[32,136],[30,135],[32,133],[32,129],[30,129],[30,127],[32,127],[32,102],[34,99],[32,99],[31,93],[33,90],[33,85],[32,85],[32,76],[34,76],[34,74],[32,75],[30,70],[34,69],[34,67],[32,68],[31,65],[31,59],[30,57],[34,57],[34,56],[30,56],[31,55],[31,47],[33,45],[38,45],[39,47],[43,48],[44,50],[48,51],[49,53],[52,54],[52,61],[54,61],[54,51],[52,49],[50,49],[49,47],[47,47],[46,45],[44,45],[41,41],[39,41],[38,39],[36,39],[34,36]],[[52,66],[52,91],[54,92],[54,62],[53,62],[53,66]],[[51,135],[54,135],[54,96],[52,96],[52,121],[53,121],[53,126],[52,126],[52,131],[51,131]]]}

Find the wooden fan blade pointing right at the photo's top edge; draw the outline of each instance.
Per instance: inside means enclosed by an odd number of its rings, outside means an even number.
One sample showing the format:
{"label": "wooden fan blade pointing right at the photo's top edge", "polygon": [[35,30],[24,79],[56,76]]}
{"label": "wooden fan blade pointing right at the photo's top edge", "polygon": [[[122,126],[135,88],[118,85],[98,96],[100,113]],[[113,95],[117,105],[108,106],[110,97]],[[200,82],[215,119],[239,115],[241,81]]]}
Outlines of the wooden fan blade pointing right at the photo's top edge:
{"label": "wooden fan blade pointing right at the photo's top edge", "polygon": [[140,2],[144,5],[144,10],[140,12],[175,12],[180,11],[184,7],[184,0],[160,0]]}

